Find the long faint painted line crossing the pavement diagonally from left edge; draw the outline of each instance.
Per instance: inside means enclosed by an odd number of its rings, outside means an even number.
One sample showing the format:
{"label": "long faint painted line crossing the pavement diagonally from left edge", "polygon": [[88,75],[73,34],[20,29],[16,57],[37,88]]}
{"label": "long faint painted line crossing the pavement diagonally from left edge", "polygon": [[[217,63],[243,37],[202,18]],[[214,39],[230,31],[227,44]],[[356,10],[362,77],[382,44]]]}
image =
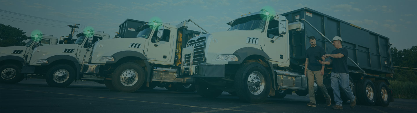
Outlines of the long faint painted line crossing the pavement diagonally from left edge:
{"label": "long faint painted line crossing the pavement diagonally from left edge", "polygon": [[[0,89],[5,89],[5,90],[18,90],[18,89],[6,89],[6,88],[0,88]],[[21,90],[21,91],[32,91],[32,92],[40,92],[40,93],[53,93],[53,92],[43,92],[43,91],[34,91],[34,90]],[[67,94],[67,93],[53,93],[53,94],[74,95],[74,96],[91,97],[91,98],[106,98],[106,97],[94,97],[94,96],[75,95],[75,94]],[[126,99],[119,99],[119,98],[106,98],[106,99],[126,100]],[[148,102],[148,101],[141,101],[141,100],[126,100],[126,101],[143,102],[143,103],[158,103],[158,102]],[[193,107],[193,108],[206,108],[206,109],[218,109],[218,110],[221,109],[221,110],[233,110],[233,111],[252,112],[252,113],[264,113],[264,112],[248,111],[248,110],[234,110],[234,109],[227,109],[227,108],[208,108],[208,107],[200,107],[200,106],[191,106],[191,105],[175,104],[175,103],[158,103],[158,104],[178,105],[178,106]]]}

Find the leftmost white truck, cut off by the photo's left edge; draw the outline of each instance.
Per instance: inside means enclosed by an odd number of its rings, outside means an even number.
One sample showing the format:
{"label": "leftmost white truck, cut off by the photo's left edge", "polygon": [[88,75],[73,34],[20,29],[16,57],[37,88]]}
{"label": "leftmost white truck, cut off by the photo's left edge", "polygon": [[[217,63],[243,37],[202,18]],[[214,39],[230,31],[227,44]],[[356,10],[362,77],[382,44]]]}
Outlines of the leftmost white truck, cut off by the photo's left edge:
{"label": "leftmost white truck, cut off by the photo's left edge", "polygon": [[29,64],[29,58],[36,47],[57,45],[58,38],[36,34],[29,37],[25,46],[0,47],[1,83],[18,83],[23,80],[23,65]]}

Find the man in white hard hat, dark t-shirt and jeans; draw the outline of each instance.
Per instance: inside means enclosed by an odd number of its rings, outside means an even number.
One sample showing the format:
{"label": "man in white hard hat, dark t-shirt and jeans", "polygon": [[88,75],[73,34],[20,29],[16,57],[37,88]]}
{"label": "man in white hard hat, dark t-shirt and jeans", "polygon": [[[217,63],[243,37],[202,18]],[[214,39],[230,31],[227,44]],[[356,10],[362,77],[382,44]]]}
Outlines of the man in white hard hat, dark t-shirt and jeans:
{"label": "man in white hard hat, dark t-shirt and jeans", "polygon": [[[330,60],[326,62],[319,61],[321,64],[333,64],[332,69],[332,76],[330,79],[332,80],[332,89],[334,94],[334,105],[333,109],[343,109],[342,107],[342,99],[340,98],[340,90],[344,92],[350,100],[350,108],[354,108],[356,106],[356,97],[353,95],[352,90],[349,87],[349,71],[347,69],[347,57],[348,52],[346,48],[342,47],[343,40],[339,36],[335,36],[332,40],[334,48],[336,50],[332,51],[332,54],[326,54],[322,57],[328,58]],[[339,87],[342,89],[339,90]]]}

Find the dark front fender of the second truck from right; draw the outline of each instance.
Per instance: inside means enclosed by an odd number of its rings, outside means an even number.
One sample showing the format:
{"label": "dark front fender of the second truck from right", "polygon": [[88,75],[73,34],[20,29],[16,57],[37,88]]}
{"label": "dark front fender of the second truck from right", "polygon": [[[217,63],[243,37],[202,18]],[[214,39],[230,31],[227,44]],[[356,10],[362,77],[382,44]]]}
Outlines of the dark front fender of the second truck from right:
{"label": "dark front fender of the second truck from right", "polygon": [[143,62],[146,64],[146,68],[147,68],[147,72],[148,74],[146,75],[146,81],[150,82],[151,81],[151,65],[148,62],[148,58],[146,58],[145,55],[143,55],[143,53],[139,53],[137,51],[132,51],[132,50],[125,50],[125,51],[120,51],[117,53],[114,53],[113,55],[111,55],[114,58],[114,61],[107,61],[106,64],[112,64],[112,63],[116,63],[119,59],[124,58],[124,57],[129,57],[129,56],[133,56],[133,57],[139,57],[143,60]]}

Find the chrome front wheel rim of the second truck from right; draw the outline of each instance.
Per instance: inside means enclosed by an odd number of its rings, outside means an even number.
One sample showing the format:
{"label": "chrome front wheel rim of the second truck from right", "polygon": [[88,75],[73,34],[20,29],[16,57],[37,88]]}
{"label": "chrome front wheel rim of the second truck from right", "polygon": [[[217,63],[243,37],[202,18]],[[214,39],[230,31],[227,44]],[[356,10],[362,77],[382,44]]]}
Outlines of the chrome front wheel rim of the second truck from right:
{"label": "chrome front wheel rim of the second truck from right", "polygon": [[136,82],[138,82],[139,75],[136,70],[133,69],[127,69],[123,71],[123,73],[120,75],[120,82],[124,86],[132,86],[135,85]]}

